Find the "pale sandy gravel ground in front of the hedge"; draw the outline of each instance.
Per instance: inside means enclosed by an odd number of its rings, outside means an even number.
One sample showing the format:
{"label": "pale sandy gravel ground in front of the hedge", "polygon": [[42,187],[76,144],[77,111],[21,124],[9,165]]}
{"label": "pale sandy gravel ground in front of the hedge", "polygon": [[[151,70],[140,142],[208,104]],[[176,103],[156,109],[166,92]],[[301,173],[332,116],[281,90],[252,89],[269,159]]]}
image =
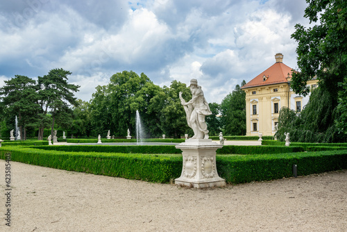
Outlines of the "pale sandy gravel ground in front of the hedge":
{"label": "pale sandy gravel ground in front of the hedge", "polygon": [[11,173],[0,231],[347,231],[347,170],[200,190],[12,161]]}

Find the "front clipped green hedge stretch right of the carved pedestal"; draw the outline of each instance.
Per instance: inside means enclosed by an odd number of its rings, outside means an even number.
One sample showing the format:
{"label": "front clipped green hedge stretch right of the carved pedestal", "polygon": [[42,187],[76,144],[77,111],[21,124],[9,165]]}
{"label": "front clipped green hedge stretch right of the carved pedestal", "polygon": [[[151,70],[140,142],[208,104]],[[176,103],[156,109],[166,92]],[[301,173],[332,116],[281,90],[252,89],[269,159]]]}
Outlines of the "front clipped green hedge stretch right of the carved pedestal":
{"label": "front clipped green hedge stretch right of the carved pedestal", "polygon": [[293,176],[294,164],[298,167],[298,176],[347,169],[347,150],[218,156],[216,161],[217,172],[227,183],[246,183]]}

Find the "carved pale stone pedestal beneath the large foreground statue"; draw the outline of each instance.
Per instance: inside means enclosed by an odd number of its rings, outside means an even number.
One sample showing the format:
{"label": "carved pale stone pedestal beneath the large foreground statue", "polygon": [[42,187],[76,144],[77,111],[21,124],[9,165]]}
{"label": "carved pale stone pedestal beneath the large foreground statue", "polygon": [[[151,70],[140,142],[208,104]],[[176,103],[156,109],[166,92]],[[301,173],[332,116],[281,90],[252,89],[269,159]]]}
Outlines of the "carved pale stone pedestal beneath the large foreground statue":
{"label": "carved pale stone pedestal beneath the large foreground statue", "polygon": [[175,179],[176,185],[194,188],[223,187],[226,181],[217,173],[216,151],[223,147],[212,140],[189,139],[176,145],[181,149],[183,168],[180,178]]}

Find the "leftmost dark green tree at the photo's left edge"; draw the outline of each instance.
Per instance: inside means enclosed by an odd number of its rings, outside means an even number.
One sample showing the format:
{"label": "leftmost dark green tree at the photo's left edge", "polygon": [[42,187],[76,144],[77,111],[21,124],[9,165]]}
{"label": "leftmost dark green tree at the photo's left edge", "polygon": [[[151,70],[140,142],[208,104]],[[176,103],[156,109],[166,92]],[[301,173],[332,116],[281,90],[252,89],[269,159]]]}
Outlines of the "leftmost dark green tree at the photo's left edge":
{"label": "leftmost dark green tree at the photo's left edge", "polygon": [[18,116],[19,133],[21,139],[26,140],[26,129],[35,123],[35,112],[39,108],[36,81],[28,76],[15,75],[15,78],[5,81],[0,95],[3,105],[6,106],[3,113],[8,117]]}

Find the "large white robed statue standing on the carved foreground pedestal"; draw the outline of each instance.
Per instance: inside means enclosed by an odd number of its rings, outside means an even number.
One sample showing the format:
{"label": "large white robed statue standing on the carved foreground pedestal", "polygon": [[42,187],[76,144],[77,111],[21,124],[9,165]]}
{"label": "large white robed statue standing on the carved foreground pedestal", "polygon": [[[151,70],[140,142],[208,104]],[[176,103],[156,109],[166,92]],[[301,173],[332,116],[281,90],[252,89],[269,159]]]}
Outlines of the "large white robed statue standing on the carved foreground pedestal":
{"label": "large white robed statue standing on the carved foreground pedestal", "polygon": [[203,90],[196,79],[192,79],[189,85],[192,99],[188,102],[179,93],[180,103],[185,108],[188,126],[193,129],[194,136],[191,139],[208,139],[208,125],[205,122],[206,115],[212,115],[210,106],[203,96]]}

